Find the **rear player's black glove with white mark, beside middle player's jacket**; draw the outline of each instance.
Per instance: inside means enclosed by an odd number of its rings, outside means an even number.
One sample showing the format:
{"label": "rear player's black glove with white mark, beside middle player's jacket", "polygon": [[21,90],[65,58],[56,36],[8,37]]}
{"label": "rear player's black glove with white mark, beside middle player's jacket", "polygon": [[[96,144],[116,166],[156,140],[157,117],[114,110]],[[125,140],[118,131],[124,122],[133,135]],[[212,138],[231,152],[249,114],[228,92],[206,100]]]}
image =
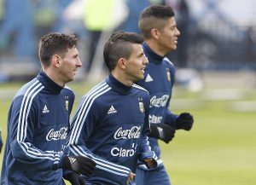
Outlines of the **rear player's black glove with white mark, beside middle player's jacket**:
{"label": "rear player's black glove with white mark, beside middle player's jacket", "polygon": [[151,124],[150,128],[151,132],[149,136],[160,139],[166,143],[171,142],[175,134],[175,130],[168,124]]}

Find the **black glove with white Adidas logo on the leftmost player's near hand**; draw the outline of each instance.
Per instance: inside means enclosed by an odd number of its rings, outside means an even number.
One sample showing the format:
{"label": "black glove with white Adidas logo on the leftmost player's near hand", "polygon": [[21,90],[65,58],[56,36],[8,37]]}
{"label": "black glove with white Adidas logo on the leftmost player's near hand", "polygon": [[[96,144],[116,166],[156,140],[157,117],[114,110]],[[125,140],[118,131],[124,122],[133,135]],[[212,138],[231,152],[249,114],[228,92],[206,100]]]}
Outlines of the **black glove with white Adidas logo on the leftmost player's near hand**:
{"label": "black glove with white Adidas logo on the leftmost player's near hand", "polygon": [[84,176],[90,176],[95,170],[96,162],[83,156],[64,156],[61,168],[69,171],[81,173]]}

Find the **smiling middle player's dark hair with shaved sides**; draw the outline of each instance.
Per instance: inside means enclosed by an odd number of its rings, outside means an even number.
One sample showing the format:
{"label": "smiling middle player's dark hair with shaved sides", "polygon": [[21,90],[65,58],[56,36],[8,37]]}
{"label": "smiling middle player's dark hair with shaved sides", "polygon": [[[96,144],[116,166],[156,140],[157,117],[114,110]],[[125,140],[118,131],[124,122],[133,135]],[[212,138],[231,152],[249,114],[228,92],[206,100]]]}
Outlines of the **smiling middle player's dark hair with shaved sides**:
{"label": "smiling middle player's dark hair with shaved sides", "polygon": [[104,61],[109,72],[113,70],[120,58],[130,58],[132,43],[143,43],[143,37],[135,32],[113,32],[103,50]]}

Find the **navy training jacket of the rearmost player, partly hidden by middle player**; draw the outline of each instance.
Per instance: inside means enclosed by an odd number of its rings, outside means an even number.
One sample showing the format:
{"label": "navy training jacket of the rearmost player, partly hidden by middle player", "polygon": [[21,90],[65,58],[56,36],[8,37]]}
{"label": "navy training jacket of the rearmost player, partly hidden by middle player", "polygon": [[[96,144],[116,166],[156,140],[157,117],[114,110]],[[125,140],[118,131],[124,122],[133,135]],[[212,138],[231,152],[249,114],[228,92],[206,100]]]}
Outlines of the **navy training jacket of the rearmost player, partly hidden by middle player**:
{"label": "navy training jacket of the rearmost player, partly hidden by middle player", "polygon": [[[149,123],[150,124],[174,124],[177,115],[169,110],[169,104],[172,97],[172,86],[175,78],[175,68],[171,61],[154,53],[143,43],[143,50],[148,57],[148,66],[145,68],[143,80],[138,82],[140,86],[148,90],[150,95]],[[160,146],[158,140],[149,137],[150,146],[158,157],[158,166],[162,165],[160,159]],[[139,165],[139,168],[148,170],[145,165]]]}

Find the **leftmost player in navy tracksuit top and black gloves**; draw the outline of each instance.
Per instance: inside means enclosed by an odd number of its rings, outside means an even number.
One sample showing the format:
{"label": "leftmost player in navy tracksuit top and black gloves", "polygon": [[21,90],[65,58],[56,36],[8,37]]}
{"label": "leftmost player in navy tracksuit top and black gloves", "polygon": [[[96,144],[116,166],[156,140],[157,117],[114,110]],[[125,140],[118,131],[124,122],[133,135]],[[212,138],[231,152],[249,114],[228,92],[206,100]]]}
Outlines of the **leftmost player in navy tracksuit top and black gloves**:
{"label": "leftmost player in navy tracksuit top and black gloves", "polygon": [[[8,116],[3,185],[63,185],[62,169],[90,175],[95,162],[68,157],[67,143],[74,94],[65,85],[80,66],[75,34],[49,33],[39,42],[42,70],[15,95]],[[67,178],[76,173],[69,173]],[[77,177],[79,178],[79,176]]]}

